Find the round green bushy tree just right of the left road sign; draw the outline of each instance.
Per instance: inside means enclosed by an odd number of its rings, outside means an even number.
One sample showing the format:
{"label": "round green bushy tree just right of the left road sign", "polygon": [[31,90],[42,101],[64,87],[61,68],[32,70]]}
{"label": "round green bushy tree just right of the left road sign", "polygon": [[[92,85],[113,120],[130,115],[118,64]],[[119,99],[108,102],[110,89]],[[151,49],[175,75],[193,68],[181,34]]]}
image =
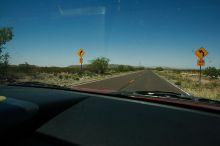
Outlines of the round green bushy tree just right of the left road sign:
{"label": "round green bushy tree just right of the left road sign", "polygon": [[109,65],[109,59],[105,57],[96,58],[91,61],[90,68],[92,71],[98,74],[104,74]]}

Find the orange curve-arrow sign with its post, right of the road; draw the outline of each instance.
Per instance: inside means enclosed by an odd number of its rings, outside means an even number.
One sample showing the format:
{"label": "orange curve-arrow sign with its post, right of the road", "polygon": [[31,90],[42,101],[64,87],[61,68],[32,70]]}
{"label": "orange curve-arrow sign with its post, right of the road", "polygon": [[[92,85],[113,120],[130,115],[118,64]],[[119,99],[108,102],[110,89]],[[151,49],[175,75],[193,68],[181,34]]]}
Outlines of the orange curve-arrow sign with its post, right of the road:
{"label": "orange curve-arrow sign with its post, right of the road", "polygon": [[198,50],[196,50],[195,55],[199,58],[197,65],[199,66],[199,83],[201,84],[202,80],[202,66],[205,65],[205,60],[203,58],[208,55],[208,51],[205,50],[205,48],[201,47]]}

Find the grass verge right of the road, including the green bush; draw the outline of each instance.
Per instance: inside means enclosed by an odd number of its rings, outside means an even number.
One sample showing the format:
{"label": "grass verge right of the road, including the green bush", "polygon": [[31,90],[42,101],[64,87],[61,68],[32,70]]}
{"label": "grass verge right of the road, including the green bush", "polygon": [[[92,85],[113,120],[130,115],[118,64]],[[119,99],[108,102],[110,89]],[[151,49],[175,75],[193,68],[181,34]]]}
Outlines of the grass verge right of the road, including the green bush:
{"label": "grass verge right of the road, including the green bush", "polygon": [[199,82],[198,70],[156,68],[154,72],[187,93],[197,97],[220,100],[220,69],[207,67],[202,71]]}

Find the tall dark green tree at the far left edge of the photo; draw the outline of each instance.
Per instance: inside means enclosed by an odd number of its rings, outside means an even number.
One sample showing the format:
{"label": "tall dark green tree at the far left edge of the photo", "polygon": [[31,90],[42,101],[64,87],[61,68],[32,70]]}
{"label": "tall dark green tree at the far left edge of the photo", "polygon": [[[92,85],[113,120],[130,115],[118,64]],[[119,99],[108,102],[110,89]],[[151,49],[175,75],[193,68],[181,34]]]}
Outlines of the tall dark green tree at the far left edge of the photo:
{"label": "tall dark green tree at the far left edge of the photo", "polygon": [[13,31],[11,27],[0,29],[0,79],[7,78],[9,65],[9,53],[5,51],[4,45],[12,40]]}

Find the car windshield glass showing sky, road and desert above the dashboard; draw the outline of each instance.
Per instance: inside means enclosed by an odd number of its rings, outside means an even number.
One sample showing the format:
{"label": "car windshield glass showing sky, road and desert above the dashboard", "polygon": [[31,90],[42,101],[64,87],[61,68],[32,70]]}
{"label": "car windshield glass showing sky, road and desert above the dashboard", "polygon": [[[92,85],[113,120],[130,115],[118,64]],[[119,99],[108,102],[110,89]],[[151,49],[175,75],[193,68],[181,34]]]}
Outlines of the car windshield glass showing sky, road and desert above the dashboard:
{"label": "car windshield glass showing sky, road and desert above the dashboard", "polygon": [[3,0],[0,83],[220,100],[218,0]]}

